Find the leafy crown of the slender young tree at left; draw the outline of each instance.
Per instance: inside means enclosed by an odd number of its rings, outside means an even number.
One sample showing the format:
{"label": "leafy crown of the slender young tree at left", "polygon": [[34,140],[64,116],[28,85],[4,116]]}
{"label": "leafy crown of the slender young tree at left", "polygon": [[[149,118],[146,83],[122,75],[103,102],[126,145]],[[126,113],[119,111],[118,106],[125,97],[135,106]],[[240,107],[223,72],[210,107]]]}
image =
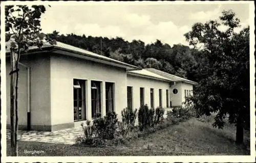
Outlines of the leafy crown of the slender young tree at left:
{"label": "leafy crown of the slender young tree at left", "polygon": [[5,6],[6,42],[10,41],[12,51],[27,51],[30,46],[41,47],[44,40],[55,40],[41,33],[40,17],[45,13],[44,6],[26,5]]}

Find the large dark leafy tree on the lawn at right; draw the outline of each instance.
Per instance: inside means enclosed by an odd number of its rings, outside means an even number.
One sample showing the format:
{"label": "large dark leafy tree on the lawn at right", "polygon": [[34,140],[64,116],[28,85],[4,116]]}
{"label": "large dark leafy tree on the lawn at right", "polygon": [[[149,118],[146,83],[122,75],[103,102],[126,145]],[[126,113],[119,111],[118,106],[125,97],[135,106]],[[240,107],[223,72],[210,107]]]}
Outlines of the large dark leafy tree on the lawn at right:
{"label": "large dark leafy tree on the lawn at right", "polygon": [[234,28],[240,26],[240,20],[232,10],[223,11],[220,21],[227,26],[220,31],[220,23],[210,20],[196,23],[185,34],[190,45],[198,48],[207,58],[204,77],[195,89],[193,101],[200,114],[217,113],[214,126],[223,128],[224,118],[236,124],[236,142],[243,143],[244,127],[250,120],[249,88],[249,27],[240,33]]}

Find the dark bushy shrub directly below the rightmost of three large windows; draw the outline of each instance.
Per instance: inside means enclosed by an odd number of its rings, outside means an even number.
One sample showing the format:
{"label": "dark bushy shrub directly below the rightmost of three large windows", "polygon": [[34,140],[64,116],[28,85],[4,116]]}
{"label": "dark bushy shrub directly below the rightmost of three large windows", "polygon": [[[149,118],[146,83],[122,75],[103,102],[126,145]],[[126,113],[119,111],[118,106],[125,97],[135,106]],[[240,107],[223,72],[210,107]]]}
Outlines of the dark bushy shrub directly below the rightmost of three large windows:
{"label": "dark bushy shrub directly below the rightmost of three large windows", "polygon": [[109,112],[104,118],[96,118],[93,121],[93,125],[95,125],[97,137],[107,140],[114,139],[117,122],[118,119],[115,112]]}

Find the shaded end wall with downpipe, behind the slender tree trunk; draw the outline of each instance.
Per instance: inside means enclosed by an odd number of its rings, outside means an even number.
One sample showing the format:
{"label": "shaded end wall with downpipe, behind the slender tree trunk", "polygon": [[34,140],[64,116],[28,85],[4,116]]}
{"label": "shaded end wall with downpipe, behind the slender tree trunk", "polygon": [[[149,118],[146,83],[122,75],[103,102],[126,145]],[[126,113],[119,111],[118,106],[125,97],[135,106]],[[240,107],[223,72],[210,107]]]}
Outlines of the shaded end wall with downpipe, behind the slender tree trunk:
{"label": "shaded end wall with downpipe, behind the slender tree trunk", "polygon": [[[20,57],[20,62],[31,68],[30,109],[31,125],[50,125],[50,58],[46,53]],[[10,124],[10,61],[6,62],[7,124]],[[19,66],[18,112],[19,124],[27,125],[27,69]]]}

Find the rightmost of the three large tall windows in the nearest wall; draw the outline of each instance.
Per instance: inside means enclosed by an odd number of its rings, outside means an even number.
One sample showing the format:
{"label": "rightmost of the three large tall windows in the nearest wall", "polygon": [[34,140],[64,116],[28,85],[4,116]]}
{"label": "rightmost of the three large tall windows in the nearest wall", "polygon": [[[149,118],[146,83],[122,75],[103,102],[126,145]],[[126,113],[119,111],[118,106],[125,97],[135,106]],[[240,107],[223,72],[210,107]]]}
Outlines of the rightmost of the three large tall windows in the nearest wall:
{"label": "rightmost of the three large tall windows in the nearest wall", "polygon": [[114,83],[105,83],[106,113],[114,111]]}

